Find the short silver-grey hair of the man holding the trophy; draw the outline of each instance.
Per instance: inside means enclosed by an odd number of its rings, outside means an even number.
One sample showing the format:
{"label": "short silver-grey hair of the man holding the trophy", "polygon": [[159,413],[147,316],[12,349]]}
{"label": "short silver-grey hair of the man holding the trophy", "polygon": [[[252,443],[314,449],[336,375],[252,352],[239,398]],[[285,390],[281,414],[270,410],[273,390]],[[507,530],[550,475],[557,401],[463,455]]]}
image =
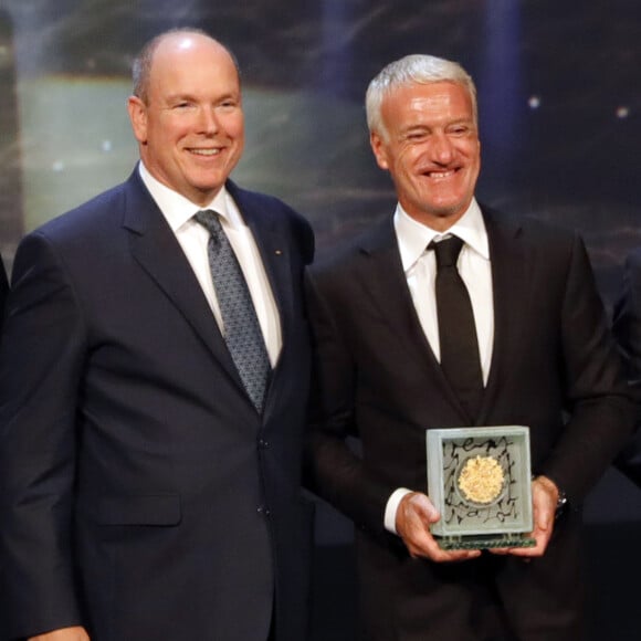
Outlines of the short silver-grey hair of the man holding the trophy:
{"label": "short silver-grey hair of the man holding the trophy", "polygon": [[381,107],[386,95],[401,86],[451,82],[464,87],[472,99],[474,123],[479,122],[476,87],[472,76],[456,62],[425,54],[406,55],[391,62],[369,83],[365,96],[367,126],[370,133],[387,137]]}

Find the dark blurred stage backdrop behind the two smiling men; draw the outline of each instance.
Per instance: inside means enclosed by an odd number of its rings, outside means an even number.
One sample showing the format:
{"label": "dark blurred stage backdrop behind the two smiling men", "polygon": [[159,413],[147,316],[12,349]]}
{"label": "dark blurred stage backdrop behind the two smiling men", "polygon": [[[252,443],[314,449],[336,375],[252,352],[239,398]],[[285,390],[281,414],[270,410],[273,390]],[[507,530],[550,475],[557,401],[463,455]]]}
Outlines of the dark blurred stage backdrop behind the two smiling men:
{"label": "dark blurred stage backdrop behind the two smiling men", "polygon": [[[136,148],[129,66],[170,27],[201,27],[243,70],[246,150],[234,178],[306,214],[319,251],[389,216],[362,98],[416,52],[476,80],[479,195],[578,228],[603,297],[641,244],[639,0],[0,1],[0,250],[122,181]],[[641,638],[641,493],[610,471],[586,507],[593,639]],[[315,641],[354,635],[349,524],[319,505]]]}

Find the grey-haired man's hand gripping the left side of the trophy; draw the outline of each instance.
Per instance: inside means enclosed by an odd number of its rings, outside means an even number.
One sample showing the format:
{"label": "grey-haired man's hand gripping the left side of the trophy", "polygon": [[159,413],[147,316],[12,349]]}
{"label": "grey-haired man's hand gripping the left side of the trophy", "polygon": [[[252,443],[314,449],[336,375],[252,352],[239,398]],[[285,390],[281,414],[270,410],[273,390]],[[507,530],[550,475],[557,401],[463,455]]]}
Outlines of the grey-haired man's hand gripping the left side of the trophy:
{"label": "grey-haired man's hand gripping the left side of the trophy", "polygon": [[477,549],[449,551],[441,549],[430,532],[430,524],[437,523],[439,518],[441,518],[439,511],[425,494],[410,492],[403,496],[396,513],[396,530],[403,539],[410,556],[429,558],[437,563],[451,563],[481,555]]}

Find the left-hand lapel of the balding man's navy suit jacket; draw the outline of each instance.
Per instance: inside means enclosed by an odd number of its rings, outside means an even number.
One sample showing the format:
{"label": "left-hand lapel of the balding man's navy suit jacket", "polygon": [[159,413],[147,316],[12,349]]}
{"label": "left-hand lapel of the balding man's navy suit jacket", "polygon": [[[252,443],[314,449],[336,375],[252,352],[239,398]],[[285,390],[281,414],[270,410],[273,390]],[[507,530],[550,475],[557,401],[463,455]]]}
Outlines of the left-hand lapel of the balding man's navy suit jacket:
{"label": "left-hand lapel of the balding man's navy suit jacket", "polygon": [[227,374],[243,389],[198,279],[137,170],[127,183],[123,227],[129,232],[134,259],[176,305]]}

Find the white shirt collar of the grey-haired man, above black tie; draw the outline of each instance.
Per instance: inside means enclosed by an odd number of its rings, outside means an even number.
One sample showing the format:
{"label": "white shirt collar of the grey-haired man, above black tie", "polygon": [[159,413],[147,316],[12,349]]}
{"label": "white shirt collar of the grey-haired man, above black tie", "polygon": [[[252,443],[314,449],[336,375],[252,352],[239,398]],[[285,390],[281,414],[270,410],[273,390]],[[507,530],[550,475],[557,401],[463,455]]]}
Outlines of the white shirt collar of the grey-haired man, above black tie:
{"label": "white shirt collar of the grey-haired man, above black tie", "polygon": [[397,204],[393,217],[403,270],[407,272],[423,255],[425,248],[434,240],[458,235],[466,245],[485,260],[490,260],[490,243],[483,222],[483,214],[476,199],[472,199],[467,211],[444,233],[435,231],[413,218]]}

